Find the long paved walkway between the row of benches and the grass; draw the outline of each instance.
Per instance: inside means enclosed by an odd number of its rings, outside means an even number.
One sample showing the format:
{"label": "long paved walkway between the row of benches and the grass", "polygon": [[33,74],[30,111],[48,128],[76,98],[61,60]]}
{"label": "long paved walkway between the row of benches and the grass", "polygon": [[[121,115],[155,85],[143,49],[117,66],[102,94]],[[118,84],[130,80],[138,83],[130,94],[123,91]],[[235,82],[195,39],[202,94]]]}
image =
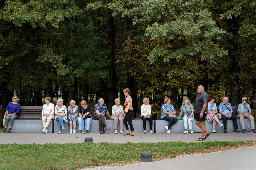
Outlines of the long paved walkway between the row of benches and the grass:
{"label": "long paved walkway between the row of benches and the grass", "polygon": [[[196,142],[201,133],[183,134],[183,133],[135,133],[135,136],[123,136],[123,134],[114,133],[0,133],[0,143],[83,143],[85,137],[92,137],[94,143],[126,143],[126,142]],[[211,133],[206,141],[256,141],[256,133]]]}

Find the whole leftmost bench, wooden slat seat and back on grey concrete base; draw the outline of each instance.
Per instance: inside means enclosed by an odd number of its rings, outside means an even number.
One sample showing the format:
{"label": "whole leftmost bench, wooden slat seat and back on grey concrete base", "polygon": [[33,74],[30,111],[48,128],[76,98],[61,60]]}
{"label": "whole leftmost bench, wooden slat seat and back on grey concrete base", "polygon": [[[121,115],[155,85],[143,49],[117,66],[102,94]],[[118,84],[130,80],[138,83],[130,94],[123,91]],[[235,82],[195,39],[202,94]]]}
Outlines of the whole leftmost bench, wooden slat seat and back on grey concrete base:
{"label": "whole leftmost bench, wooden slat seat and back on grey concrete base", "polygon": [[[14,120],[11,133],[43,133],[42,106],[21,106],[18,118]],[[10,122],[7,128],[9,128]],[[54,121],[48,126],[48,133],[54,132]]]}

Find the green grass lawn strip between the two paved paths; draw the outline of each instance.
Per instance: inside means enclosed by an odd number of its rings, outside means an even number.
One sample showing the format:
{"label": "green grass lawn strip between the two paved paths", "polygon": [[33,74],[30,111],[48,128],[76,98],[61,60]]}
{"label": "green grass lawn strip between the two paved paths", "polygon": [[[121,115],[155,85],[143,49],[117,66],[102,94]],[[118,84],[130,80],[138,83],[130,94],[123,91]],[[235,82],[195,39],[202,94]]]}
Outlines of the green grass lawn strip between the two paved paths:
{"label": "green grass lawn strip between the two paved paths", "polygon": [[153,161],[157,161],[251,145],[255,142],[0,144],[0,169],[118,166],[140,161],[142,152],[151,152]]}

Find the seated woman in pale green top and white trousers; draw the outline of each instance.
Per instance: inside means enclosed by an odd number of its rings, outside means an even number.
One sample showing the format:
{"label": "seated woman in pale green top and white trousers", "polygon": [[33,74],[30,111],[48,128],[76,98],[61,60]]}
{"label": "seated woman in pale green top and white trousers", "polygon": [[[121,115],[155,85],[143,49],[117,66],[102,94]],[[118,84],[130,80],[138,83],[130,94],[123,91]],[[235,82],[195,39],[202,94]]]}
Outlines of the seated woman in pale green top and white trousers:
{"label": "seated woman in pale green top and white trousers", "polygon": [[183,121],[184,121],[184,127],[185,131],[183,133],[188,133],[188,126],[190,133],[193,133],[192,130],[192,121],[194,120],[194,106],[190,103],[189,98],[185,97],[182,102],[181,106],[181,113],[179,116],[184,113]]}

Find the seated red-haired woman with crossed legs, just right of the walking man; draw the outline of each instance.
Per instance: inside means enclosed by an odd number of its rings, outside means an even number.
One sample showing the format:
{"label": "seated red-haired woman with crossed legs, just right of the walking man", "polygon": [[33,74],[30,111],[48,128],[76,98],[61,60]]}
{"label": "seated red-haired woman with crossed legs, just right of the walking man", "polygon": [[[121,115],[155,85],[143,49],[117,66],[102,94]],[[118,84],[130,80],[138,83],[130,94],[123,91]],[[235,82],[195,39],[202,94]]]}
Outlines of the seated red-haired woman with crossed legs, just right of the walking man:
{"label": "seated red-haired woman with crossed legs, just right of the walking man", "polygon": [[213,130],[212,133],[217,133],[215,130],[216,122],[220,125],[220,127],[223,127],[224,124],[221,124],[218,118],[218,110],[217,106],[214,103],[214,98],[212,96],[208,97],[208,113],[206,115],[207,121],[210,123],[212,121]]}

